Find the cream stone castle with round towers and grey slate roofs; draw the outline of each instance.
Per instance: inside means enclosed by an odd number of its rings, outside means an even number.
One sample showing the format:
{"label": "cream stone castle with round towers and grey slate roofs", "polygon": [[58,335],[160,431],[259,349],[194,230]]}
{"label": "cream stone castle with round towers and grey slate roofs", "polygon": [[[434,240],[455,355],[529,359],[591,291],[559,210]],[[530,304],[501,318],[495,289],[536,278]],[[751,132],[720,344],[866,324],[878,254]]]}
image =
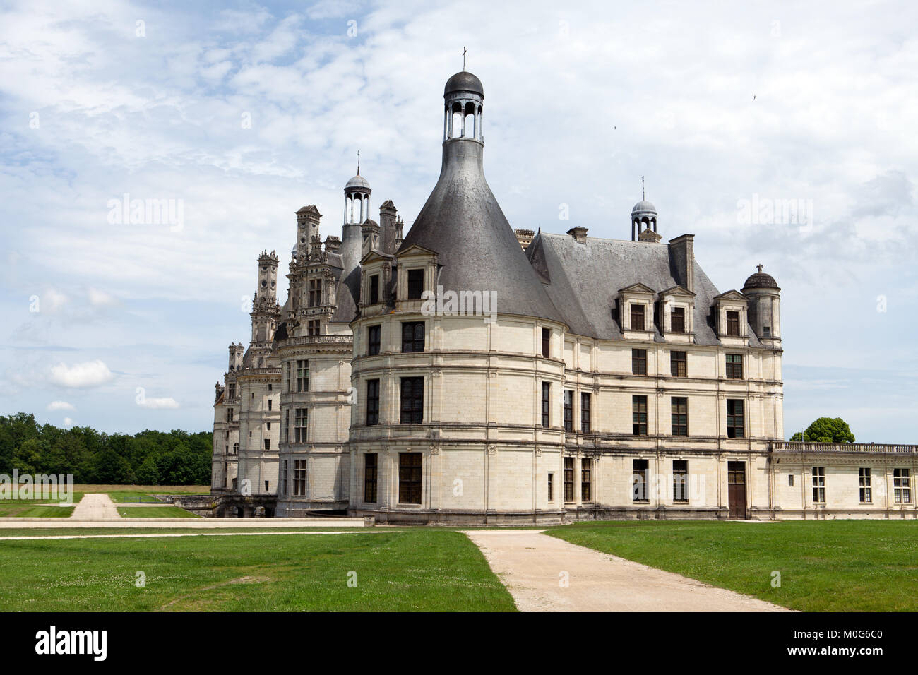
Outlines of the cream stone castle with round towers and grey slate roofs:
{"label": "cream stone castle with round towers and grey slate roofs", "polygon": [[344,186],[341,238],[297,211],[277,299],[214,405],[218,513],[383,523],[915,517],[911,445],[784,442],[780,288],[720,291],[694,236],[513,231],[483,169],[484,88],[446,83],[442,169],[403,233]]}

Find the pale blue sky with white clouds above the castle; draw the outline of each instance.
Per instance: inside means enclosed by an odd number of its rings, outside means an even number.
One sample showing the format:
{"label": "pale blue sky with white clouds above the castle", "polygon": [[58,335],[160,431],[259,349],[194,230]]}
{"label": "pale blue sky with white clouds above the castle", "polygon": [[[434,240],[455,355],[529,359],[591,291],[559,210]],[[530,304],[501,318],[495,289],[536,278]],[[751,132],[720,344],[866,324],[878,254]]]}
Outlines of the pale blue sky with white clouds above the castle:
{"label": "pale blue sky with white clouds above the castle", "polygon": [[[644,175],[722,291],[778,279],[787,435],[918,440],[913,4],[0,6],[0,413],[208,429],[258,253],[285,269],[308,204],[340,235],[358,149],[414,219],[465,46],[513,227],[627,239]],[[125,194],[181,227],[113,222]]]}

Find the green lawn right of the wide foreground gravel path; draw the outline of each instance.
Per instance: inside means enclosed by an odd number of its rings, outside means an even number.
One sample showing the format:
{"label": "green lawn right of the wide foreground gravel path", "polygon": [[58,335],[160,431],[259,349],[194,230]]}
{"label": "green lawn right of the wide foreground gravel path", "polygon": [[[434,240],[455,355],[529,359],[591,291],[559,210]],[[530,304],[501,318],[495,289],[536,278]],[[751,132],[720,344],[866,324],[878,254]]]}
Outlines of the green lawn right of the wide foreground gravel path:
{"label": "green lawn right of the wide foreground gravel path", "polygon": [[915,521],[600,522],[547,534],[805,612],[918,611]]}

